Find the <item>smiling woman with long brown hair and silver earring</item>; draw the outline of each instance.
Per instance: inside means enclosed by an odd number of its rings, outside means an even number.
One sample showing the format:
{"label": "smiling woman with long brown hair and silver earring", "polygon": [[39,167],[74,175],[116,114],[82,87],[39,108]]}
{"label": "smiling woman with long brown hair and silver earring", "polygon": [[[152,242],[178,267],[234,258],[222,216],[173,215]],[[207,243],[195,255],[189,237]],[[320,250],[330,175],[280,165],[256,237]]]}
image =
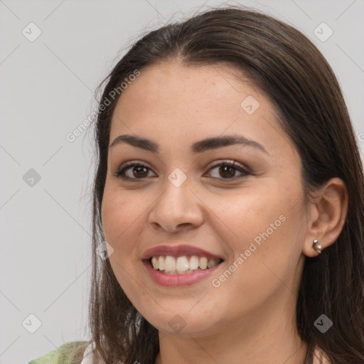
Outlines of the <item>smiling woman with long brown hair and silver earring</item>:
{"label": "smiling woman with long brown hair and silver earring", "polygon": [[364,363],[363,165],[319,50],[229,6],[105,80],[92,340],[31,363]]}

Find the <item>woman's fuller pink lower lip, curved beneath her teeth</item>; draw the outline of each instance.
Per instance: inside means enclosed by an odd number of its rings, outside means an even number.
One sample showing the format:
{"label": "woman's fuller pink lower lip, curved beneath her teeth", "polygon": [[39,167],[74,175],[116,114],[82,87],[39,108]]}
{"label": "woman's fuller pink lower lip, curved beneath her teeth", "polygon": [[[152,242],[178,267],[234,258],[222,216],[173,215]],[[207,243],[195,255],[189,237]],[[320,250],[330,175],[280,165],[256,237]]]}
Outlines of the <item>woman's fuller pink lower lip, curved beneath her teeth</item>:
{"label": "woman's fuller pink lower lip, curved beneath her teeth", "polygon": [[160,284],[164,287],[187,286],[189,284],[200,282],[203,279],[209,277],[210,274],[213,274],[213,272],[215,272],[215,270],[218,269],[221,265],[220,263],[209,269],[198,269],[196,271],[193,271],[192,273],[165,274],[151,267],[149,259],[143,260],[143,264],[144,267],[146,267],[149,275],[151,276],[151,279],[153,279],[154,282],[156,282],[157,284]]}

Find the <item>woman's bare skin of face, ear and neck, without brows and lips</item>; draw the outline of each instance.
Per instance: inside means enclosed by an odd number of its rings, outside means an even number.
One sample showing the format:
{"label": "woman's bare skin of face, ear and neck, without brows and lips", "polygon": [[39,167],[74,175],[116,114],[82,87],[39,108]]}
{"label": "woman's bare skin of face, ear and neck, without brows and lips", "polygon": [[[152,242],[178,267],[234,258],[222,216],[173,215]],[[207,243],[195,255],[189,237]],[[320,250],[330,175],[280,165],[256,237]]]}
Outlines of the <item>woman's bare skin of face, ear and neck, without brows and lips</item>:
{"label": "woman's bare skin of face, ear and neck, without brows and lips", "polygon": [[[157,364],[304,363],[307,344],[297,333],[295,310],[304,258],[318,255],[314,239],[323,249],[335,242],[346,217],[346,187],[338,178],[313,200],[304,199],[301,159],[274,107],[252,82],[235,75],[228,66],[191,67],[179,60],[149,66],[124,90],[112,118],[110,144],[131,134],[160,145],[159,154],[126,143],[109,148],[102,201],[112,269],[159,330]],[[248,95],[259,102],[252,114],[240,107]],[[231,134],[257,141],[267,153],[239,144],[190,150],[201,139]],[[252,174],[210,167],[225,159]],[[149,169],[135,177],[129,168],[131,181],[113,175],[134,160]],[[175,168],[187,177],[178,188],[168,180]],[[212,280],[282,215],[284,223],[213,287]],[[200,247],[224,262],[191,286],[161,287],[141,255],[162,244]],[[178,332],[168,325],[175,315],[186,323]]]}

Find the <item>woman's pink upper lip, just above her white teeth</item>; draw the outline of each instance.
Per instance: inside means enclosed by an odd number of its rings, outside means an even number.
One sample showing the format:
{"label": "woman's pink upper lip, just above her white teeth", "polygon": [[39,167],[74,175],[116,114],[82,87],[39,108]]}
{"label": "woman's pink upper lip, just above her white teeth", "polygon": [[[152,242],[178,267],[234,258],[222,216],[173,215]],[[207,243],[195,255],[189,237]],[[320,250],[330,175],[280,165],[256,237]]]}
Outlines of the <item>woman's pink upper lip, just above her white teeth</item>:
{"label": "woman's pink upper lip, just above her white teeth", "polygon": [[193,247],[191,245],[159,245],[158,247],[153,247],[149,250],[146,250],[141,259],[149,259],[156,255],[171,255],[171,257],[179,257],[182,255],[198,255],[207,257],[208,259],[223,259],[223,257],[214,255],[207,250],[200,249],[199,247]]}

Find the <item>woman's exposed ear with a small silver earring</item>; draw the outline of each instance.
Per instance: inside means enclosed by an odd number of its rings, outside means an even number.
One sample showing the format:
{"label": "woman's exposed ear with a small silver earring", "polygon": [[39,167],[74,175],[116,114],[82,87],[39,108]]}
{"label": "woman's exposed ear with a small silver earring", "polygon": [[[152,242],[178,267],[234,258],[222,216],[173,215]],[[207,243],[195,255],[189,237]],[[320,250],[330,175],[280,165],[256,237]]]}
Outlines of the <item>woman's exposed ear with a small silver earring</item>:
{"label": "woman's exposed ear with a small silver earring", "polygon": [[321,250],[336,242],[348,214],[348,189],[341,178],[332,178],[309,202],[307,233],[302,252],[307,257],[319,255],[312,247],[319,240]]}

